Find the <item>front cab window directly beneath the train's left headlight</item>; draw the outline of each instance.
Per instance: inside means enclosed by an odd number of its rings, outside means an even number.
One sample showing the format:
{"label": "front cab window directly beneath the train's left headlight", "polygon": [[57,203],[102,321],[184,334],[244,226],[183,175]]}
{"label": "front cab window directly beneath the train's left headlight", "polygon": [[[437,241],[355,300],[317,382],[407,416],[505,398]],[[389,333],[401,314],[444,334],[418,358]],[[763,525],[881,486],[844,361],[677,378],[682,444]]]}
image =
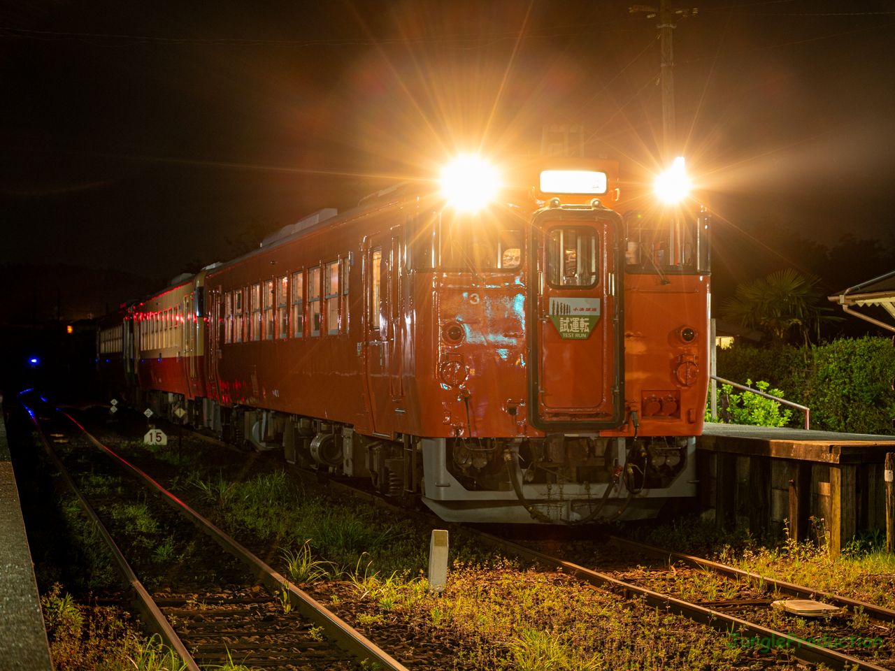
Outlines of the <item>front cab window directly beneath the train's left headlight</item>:
{"label": "front cab window directly beneath the train's left headlight", "polygon": [[498,208],[475,214],[439,210],[416,221],[411,248],[417,270],[499,271],[522,266],[524,227],[512,213]]}

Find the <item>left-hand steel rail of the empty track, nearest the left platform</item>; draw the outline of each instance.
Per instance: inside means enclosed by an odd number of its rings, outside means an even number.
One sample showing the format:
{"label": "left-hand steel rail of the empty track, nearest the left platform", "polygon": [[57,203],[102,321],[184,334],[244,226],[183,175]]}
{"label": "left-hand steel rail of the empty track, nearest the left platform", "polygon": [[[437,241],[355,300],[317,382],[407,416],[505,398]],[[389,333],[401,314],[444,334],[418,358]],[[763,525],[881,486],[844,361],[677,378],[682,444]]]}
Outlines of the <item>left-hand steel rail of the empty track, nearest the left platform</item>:
{"label": "left-hand steel rail of the empty track, nearest the left platform", "polygon": [[124,558],[121,550],[115,544],[115,540],[112,539],[112,536],[109,535],[106,526],[99,520],[96,511],[93,510],[90,503],[88,503],[87,499],[81,493],[81,489],[75,484],[72,479],[71,474],[66,470],[62,460],[59,459],[59,455],[55,453],[53,446],[50,445],[49,440],[47,440],[47,436],[44,433],[44,430],[40,427],[38,423],[38,418],[34,416],[34,412],[31,411],[30,407],[25,405],[25,403],[21,403],[22,406],[28,411],[28,414],[31,418],[31,423],[34,424],[34,428],[38,431],[38,436],[40,437],[40,442],[43,443],[44,449],[49,455],[50,459],[55,463],[56,468],[62,474],[63,480],[68,485],[68,487],[72,490],[74,496],[78,499],[78,504],[81,505],[81,509],[90,517],[90,522],[92,522],[93,526],[98,531],[99,537],[103,539],[106,543],[107,548],[112,553],[112,557],[115,560],[115,565],[118,568],[119,573],[121,573],[124,578],[124,582],[128,584],[128,586],[133,590],[136,595],[136,601],[133,602],[134,605],[140,610],[141,616],[143,616],[144,624],[149,627],[149,630],[153,633],[158,633],[161,637],[162,642],[165,643],[168,648],[174,650],[177,655],[183,659],[186,663],[186,667],[190,671],[200,671],[199,665],[196,664],[195,660],[190,655],[189,650],[187,650],[186,646],[183,644],[183,641],[180,640],[180,637],[174,631],[174,627],[168,622],[166,616],[161,612],[161,610],[156,605],[156,602],[149,596],[149,591],[143,587],[140,579],[137,578],[136,573],[133,573],[133,569],[131,565],[127,563],[127,559]]}

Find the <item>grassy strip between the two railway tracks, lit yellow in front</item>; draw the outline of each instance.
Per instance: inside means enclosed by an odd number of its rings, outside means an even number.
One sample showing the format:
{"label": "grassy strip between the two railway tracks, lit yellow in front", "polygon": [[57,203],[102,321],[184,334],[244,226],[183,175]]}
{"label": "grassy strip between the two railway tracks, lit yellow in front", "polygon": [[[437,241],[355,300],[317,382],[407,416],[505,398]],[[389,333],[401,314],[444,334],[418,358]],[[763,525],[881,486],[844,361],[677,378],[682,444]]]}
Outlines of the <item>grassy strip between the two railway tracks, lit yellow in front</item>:
{"label": "grassy strip between the two railway tracks, lit yellow in front", "polygon": [[[427,669],[748,668],[790,666],[683,617],[618,599],[451,537],[446,590],[423,570],[431,527],[303,484],[270,458],[184,437],[177,449],[98,435],[374,641]],[[173,548],[177,553],[180,548]]]}

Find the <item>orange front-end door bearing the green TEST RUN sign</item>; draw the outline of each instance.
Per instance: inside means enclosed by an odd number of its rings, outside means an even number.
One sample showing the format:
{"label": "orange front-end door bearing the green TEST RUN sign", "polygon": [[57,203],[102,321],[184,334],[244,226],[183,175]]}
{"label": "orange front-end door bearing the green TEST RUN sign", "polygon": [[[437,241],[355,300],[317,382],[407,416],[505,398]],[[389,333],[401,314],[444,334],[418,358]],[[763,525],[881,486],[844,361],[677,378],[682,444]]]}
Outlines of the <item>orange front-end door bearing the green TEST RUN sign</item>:
{"label": "orange front-end door bearing the green TEST RUN sign", "polygon": [[623,242],[621,218],[609,210],[549,209],[533,219],[529,383],[537,429],[615,429],[624,421]]}

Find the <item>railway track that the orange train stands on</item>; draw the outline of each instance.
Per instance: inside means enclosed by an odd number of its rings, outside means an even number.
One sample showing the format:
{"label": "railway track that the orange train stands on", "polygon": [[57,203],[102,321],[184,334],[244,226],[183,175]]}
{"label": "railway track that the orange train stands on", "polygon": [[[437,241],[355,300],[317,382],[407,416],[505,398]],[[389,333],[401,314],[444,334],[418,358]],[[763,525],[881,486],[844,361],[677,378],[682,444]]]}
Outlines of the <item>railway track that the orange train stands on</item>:
{"label": "railway track that the orange train stands on", "polygon": [[[205,437],[198,432],[191,432],[194,436],[213,443],[219,443],[212,438]],[[343,482],[339,482],[319,471],[303,471],[295,468],[295,471],[303,477],[303,479],[324,484],[328,488],[337,491],[339,494],[345,494],[365,500],[373,505],[379,505],[403,514],[411,514],[420,518],[425,518],[429,522],[436,522],[437,518],[427,514],[421,514],[415,511],[408,511],[405,508],[394,505],[388,500],[371,494],[362,489],[353,488]],[[444,524],[444,522],[437,522]],[[448,527],[456,525],[448,524]],[[626,539],[614,538],[612,542],[616,547],[624,549],[626,552],[636,552],[645,556],[653,556],[667,561],[673,556],[674,561],[682,561],[692,565],[700,571],[712,571],[720,576],[729,578],[730,580],[743,582],[745,585],[754,585],[761,583],[763,587],[759,590],[761,593],[755,593],[754,590],[741,590],[733,599],[703,600],[696,603],[687,599],[680,599],[671,596],[669,593],[652,590],[644,584],[638,584],[636,579],[623,580],[618,574],[601,573],[600,571],[587,568],[583,565],[577,565],[573,562],[566,561],[560,557],[550,556],[539,552],[533,548],[526,548],[518,543],[511,542],[507,539],[501,539],[497,536],[484,533],[469,527],[464,527],[466,532],[473,533],[483,543],[489,544],[495,548],[499,548],[507,554],[516,555],[526,560],[537,562],[541,565],[551,566],[562,570],[564,573],[574,576],[576,579],[592,585],[592,587],[600,590],[609,591],[620,598],[640,598],[651,607],[659,607],[669,613],[684,616],[700,624],[711,626],[720,632],[736,634],[737,641],[771,641],[771,646],[776,648],[785,647],[788,655],[803,664],[823,665],[824,667],[834,669],[865,669],[867,671],[880,671],[881,669],[895,669],[895,657],[891,657],[891,652],[883,650],[882,656],[877,654],[874,658],[873,651],[856,651],[857,654],[844,654],[839,650],[832,650],[824,644],[816,644],[806,641],[805,638],[798,637],[792,633],[784,633],[769,626],[761,624],[760,617],[755,617],[756,613],[768,612],[771,597],[769,592],[775,592],[773,599],[783,598],[782,595],[789,595],[799,599],[823,599],[827,602],[834,603],[842,607],[864,607],[865,613],[878,622],[891,622],[895,613],[892,611],[876,607],[872,604],[864,604],[854,599],[846,599],[835,597],[834,595],[823,593],[819,590],[812,590],[791,583],[775,581],[767,576],[761,576],[756,573],[747,573],[730,566],[718,565],[707,560],[693,556],[685,556],[680,553],[669,553],[661,548],[651,548],[642,544],[632,544]],[[832,626],[828,628],[831,633],[846,633],[848,636],[848,624],[841,626]],[[888,630],[887,630],[888,632]],[[887,635],[889,645],[891,646],[891,637]],[[849,650],[850,651],[850,650]],[[879,659],[879,657],[885,658]],[[884,666],[883,666],[884,665]]]}

